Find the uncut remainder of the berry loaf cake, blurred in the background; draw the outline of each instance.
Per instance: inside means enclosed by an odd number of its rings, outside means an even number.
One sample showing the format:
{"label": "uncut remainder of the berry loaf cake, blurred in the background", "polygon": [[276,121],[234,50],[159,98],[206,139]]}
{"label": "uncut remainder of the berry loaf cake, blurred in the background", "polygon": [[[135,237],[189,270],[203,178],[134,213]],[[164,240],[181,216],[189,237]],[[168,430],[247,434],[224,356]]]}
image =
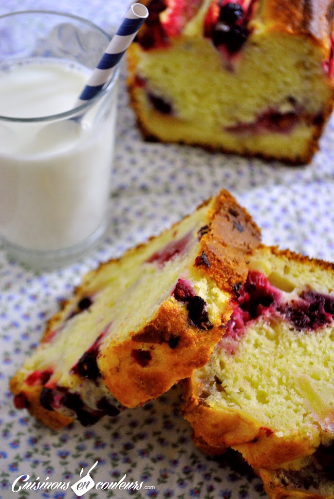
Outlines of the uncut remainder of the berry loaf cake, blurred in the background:
{"label": "uncut remainder of the berry loaf cake, blurred in the background", "polygon": [[147,138],[307,163],[333,109],[330,0],[142,0],[128,86]]}

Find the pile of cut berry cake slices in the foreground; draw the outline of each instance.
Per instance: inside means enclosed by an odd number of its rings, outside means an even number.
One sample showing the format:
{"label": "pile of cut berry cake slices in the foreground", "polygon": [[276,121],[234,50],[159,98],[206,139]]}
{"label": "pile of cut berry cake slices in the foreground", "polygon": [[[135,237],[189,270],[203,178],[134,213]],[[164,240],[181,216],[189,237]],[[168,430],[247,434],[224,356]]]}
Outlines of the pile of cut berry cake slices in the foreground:
{"label": "pile of cut berry cake slices in the foreground", "polygon": [[84,277],[11,379],[50,428],[185,379],[206,453],[241,453],[272,499],[334,497],[334,265],[260,245],[226,191]]}

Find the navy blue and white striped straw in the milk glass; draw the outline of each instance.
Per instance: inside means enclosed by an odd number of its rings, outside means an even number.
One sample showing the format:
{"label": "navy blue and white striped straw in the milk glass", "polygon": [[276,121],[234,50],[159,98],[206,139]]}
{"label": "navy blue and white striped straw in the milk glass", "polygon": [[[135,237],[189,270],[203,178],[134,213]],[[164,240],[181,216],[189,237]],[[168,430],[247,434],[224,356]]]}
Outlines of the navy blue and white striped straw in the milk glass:
{"label": "navy blue and white striped straw in the milk glass", "polygon": [[81,92],[76,106],[92,99],[101,90],[148,15],[149,11],[145,5],[141,3],[131,5],[117,33],[113,36],[100,62],[87,81],[87,85]]}

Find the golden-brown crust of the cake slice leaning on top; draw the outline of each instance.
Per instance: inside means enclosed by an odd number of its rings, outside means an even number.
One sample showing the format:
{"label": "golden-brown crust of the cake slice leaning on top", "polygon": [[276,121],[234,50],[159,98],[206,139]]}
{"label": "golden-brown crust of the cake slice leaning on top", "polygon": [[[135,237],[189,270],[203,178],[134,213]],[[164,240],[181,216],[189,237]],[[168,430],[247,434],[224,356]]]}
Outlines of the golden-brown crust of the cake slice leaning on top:
{"label": "golden-brown crust of the cake slice leaning on top", "polygon": [[[98,359],[104,382],[127,407],[158,397],[203,366],[235,307],[233,288],[247,276],[248,255],[259,245],[260,231],[227,191],[216,197],[208,218],[208,232],[201,238],[197,256],[204,251],[210,266],[201,266],[200,272],[230,293],[231,300],[222,311],[221,321],[209,330],[191,324],[183,305],[167,301],[141,331],[121,344],[112,342],[104,350]],[[170,348],[169,342],[175,338],[177,345]],[[144,367],[133,362],[133,350],[149,350],[152,361]]]}

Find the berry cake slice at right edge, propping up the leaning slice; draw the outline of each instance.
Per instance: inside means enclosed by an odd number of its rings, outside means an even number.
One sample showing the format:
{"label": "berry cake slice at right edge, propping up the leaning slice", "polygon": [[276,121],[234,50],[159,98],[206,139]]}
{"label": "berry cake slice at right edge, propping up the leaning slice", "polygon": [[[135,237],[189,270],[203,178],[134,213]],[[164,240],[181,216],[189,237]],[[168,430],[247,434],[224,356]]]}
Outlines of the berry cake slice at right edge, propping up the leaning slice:
{"label": "berry cake slice at right edge, propping up the leaning slice", "polygon": [[201,448],[282,468],[334,442],[334,265],[261,247],[237,295],[184,416]]}

